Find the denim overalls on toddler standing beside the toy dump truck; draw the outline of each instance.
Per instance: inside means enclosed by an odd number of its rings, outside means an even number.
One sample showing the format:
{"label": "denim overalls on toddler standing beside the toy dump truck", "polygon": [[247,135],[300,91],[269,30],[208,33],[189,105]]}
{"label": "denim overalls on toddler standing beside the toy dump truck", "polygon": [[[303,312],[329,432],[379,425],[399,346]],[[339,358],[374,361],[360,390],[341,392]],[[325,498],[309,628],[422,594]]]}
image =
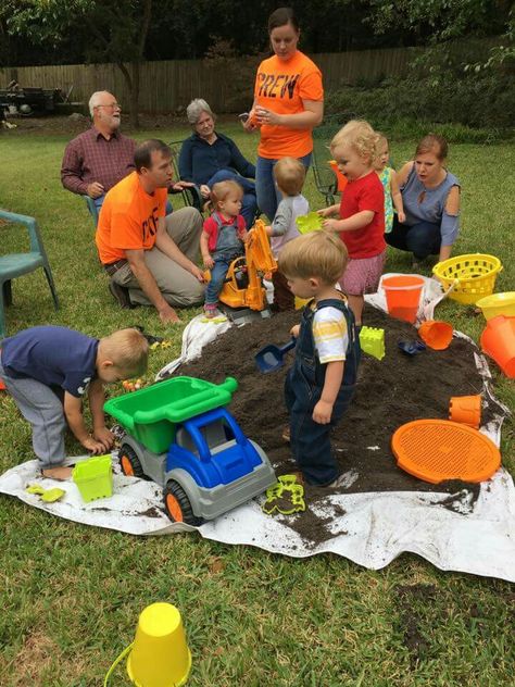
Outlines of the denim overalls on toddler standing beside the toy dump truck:
{"label": "denim overalls on toddler standing beside the toy dump truck", "polygon": [[[349,346],[346,351],[343,379],[332,407],[330,423],[321,425],[313,420],[313,410],[321,400],[326,365],[322,364],[313,338],[315,311],[331,305],[343,313]],[[309,303],[302,313],[302,323],[296,347],[296,359],[286,377],[285,397],[290,414],[290,445],[293,458],[307,484],[326,486],[340,471],[332,454],[329,434],[340,420],[354,394],[357,365],[361,358],[360,339],[354,328],[354,315],[338,298],[319,301],[315,310]]]}

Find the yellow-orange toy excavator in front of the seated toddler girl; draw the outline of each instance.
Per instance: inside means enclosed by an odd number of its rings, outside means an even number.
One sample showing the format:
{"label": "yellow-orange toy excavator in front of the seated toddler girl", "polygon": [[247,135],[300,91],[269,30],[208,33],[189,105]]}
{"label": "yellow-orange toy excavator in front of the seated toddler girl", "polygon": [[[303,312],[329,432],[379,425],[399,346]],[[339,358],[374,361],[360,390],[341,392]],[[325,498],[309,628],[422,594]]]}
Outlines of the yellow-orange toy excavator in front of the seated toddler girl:
{"label": "yellow-orange toy excavator in front of the seated toddler girl", "polygon": [[[250,315],[247,311],[266,311],[266,289],[263,276],[277,270],[277,262],[272,254],[271,242],[263,220],[256,220],[244,247],[244,255],[236,258],[229,266],[218,299],[234,309],[227,315],[233,320],[244,320]],[[239,312],[238,312],[239,309]],[[266,311],[267,312],[267,311]],[[263,313],[263,316],[266,316]]]}

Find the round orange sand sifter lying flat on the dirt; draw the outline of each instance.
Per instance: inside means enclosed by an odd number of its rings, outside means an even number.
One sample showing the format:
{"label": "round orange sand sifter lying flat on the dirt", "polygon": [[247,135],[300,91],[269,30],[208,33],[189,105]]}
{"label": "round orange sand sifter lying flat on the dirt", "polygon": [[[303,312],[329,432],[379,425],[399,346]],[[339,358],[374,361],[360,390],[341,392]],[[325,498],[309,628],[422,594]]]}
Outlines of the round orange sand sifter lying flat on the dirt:
{"label": "round orange sand sifter lying flat on the dirt", "polygon": [[399,467],[431,484],[483,482],[501,465],[501,453],[491,439],[449,420],[409,422],[395,430],[391,448]]}

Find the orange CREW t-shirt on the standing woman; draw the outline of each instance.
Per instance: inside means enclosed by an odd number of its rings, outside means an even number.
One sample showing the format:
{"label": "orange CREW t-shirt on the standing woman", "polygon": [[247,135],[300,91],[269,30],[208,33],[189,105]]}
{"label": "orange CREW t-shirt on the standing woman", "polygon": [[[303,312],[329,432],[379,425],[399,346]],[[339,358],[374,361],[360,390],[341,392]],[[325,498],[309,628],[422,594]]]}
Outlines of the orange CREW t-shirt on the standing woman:
{"label": "orange CREW t-shirt on the standing woman", "polygon": [[[322,73],[316,64],[300,50],[287,62],[277,55],[263,60],[255,77],[255,104],[277,114],[297,114],[304,112],[303,100],[324,100]],[[302,158],[312,150],[311,128],[292,129],[266,124],[261,127],[258,154],[262,158]]]}

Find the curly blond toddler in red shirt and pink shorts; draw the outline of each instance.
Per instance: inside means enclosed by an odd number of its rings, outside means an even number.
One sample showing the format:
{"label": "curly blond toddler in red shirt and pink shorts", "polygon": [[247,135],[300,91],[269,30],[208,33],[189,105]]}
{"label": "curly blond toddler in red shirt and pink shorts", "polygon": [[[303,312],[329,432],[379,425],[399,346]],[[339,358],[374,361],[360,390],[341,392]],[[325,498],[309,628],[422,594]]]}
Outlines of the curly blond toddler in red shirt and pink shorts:
{"label": "curly blond toddler in red shirt and pink shorts", "polygon": [[[367,122],[352,120],[330,143],[338,168],[349,183],[341,203],[319,210],[323,227],[338,232],[349,252],[340,286],[349,299],[357,327],[362,325],[364,295],[377,291],[386,259],[385,191],[374,168],[379,136]],[[340,220],[329,218],[339,214]]]}

